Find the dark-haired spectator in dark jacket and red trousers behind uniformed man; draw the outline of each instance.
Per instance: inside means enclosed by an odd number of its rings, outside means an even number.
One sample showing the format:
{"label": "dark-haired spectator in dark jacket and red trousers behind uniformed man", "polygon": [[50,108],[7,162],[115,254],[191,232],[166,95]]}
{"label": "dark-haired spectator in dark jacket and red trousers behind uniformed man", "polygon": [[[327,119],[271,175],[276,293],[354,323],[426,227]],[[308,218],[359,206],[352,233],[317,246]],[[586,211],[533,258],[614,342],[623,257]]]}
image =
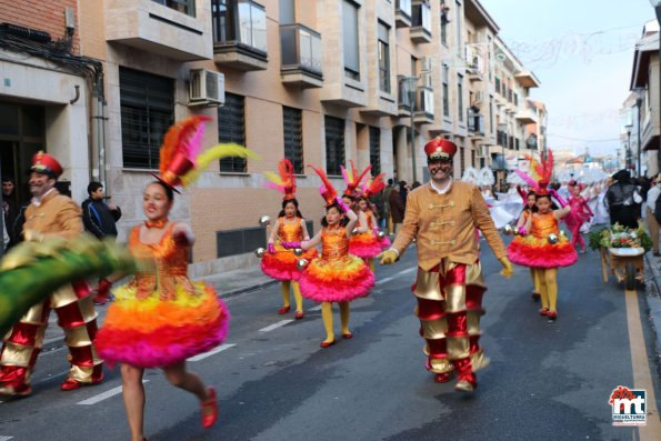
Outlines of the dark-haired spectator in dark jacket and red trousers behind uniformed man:
{"label": "dark-haired spectator in dark jacket and red trousers behind uniformed man", "polygon": [[[114,203],[103,202],[103,186],[90,182],[89,198],[82,202],[82,223],[86,230],[98,239],[117,238],[116,222],[121,218],[121,210]],[[110,300],[111,283],[108,279],[100,279],[94,295],[94,304],[106,304]]]}

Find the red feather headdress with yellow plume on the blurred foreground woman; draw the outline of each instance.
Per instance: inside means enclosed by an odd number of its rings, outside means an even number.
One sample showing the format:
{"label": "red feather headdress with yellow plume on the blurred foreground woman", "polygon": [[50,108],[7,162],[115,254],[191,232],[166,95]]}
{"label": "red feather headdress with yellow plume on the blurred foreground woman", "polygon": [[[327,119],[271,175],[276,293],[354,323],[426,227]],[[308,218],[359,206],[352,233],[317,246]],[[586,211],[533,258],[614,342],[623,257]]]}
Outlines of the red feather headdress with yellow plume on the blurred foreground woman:
{"label": "red feather headdress with yellow plume on the blurred foreground woman", "polygon": [[200,153],[204,138],[204,122],[211,118],[194,116],[177,122],[166,133],[161,146],[159,181],[179,192],[177,187],[194,182],[200,171],[218,159],[227,157],[258,159],[254,152],[239,144],[218,144]]}

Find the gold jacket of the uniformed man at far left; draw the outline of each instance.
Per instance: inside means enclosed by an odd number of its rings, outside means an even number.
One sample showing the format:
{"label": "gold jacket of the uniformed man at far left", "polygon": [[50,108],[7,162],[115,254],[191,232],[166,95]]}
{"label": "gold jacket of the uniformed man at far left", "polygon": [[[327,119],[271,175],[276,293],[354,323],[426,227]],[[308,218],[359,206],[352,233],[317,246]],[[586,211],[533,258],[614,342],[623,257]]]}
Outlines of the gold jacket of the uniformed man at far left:
{"label": "gold jacket of the uniformed man at far left", "polygon": [[73,238],[84,231],[82,210],[71,198],[52,189],[41,198],[39,204],[32,201],[26,208],[23,234],[28,230],[40,232],[44,237]]}

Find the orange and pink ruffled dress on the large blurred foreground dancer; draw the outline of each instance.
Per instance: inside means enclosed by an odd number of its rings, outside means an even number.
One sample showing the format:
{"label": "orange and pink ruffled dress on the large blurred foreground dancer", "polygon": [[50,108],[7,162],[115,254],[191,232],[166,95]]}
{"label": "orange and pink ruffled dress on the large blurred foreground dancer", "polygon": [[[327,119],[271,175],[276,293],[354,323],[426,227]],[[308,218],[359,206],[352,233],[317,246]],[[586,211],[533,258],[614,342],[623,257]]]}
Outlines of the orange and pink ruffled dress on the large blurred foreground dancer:
{"label": "orange and pink ruffled dress on the large blurred foreground dancer", "polygon": [[94,340],[110,365],[166,367],[207,352],[227,337],[228,308],[213,287],[188,278],[188,249],[174,242],[173,225],[154,244],[140,241],[140,227],[131,231],[131,253],[153,259],[156,268],[113,291],[116,301]]}

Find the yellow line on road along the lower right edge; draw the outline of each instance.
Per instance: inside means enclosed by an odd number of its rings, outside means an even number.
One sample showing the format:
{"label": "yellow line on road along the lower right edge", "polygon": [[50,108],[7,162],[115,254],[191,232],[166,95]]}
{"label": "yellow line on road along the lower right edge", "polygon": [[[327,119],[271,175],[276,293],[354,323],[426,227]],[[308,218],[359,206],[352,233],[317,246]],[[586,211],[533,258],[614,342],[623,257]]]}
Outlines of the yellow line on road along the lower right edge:
{"label": "yellow line on road along the lower right edge", "polygon": [[661,439],[661,419],[657,409],[654,383],[650,373],[650,363],[645,340],[642,334],[640,310],[638,308],[638,293],[635,290],[624,290],[627,299],[627,327],[629,328],[629,345],[631,347],[631,364],[633,368],[633,388],[647,391],[645,404],[648,410],[647,425],[639,427],[641,441]]}

